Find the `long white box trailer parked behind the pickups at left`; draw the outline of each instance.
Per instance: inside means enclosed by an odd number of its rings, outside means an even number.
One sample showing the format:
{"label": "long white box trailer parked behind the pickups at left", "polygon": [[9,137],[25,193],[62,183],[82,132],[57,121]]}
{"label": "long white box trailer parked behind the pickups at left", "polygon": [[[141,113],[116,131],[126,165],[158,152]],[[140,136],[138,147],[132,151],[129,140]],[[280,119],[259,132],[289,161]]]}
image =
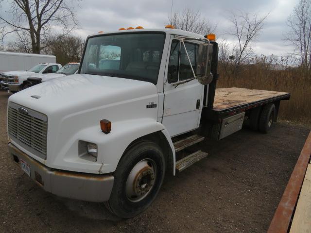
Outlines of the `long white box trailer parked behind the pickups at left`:
{"label": "long white box trailer parked behind the pickups at left", "polygon": [[0,72],[26,70],[38,63],[56,63],[54,55],[0,51]]}

